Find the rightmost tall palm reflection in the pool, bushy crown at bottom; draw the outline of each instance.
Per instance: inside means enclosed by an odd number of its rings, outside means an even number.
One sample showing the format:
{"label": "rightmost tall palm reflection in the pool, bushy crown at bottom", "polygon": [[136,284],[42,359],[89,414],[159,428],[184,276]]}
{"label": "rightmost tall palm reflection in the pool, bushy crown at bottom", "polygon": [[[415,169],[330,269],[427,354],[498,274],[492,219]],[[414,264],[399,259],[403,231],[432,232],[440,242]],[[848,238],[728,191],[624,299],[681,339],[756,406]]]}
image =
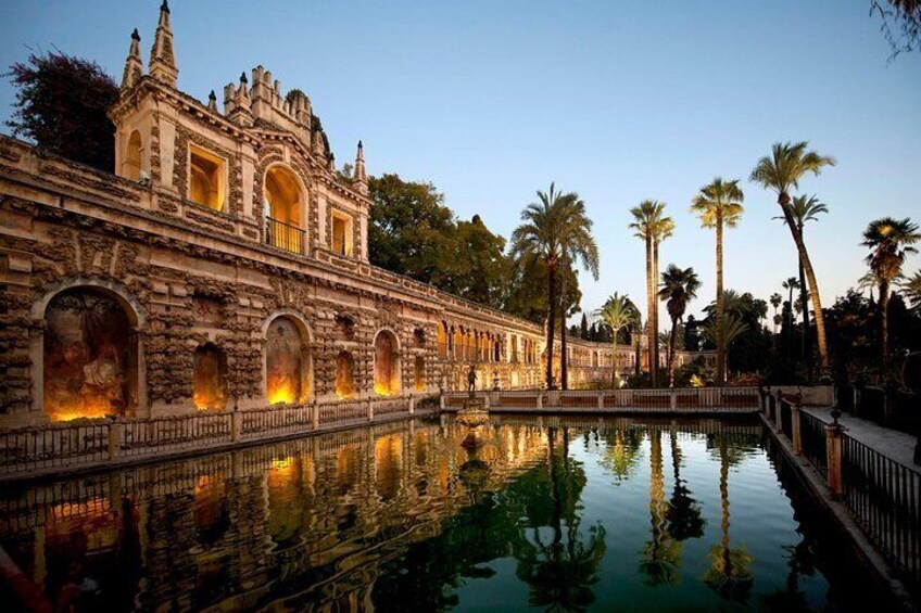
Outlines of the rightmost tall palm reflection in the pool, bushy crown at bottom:
{"label": "rightmost tall palm reflection in the pool, bushy crown at bottom", "polygon": [[720,507],[722,509],[722,541],[710,548],[710,569],[704,576],[704,583],[718,591],[723,598],[740,600],[748,596],[752,588],[753,558],[745,548],[732,549],[729,539],[729,467],[741,458],[730,455],[724,434],[719,435],[720,458]]}

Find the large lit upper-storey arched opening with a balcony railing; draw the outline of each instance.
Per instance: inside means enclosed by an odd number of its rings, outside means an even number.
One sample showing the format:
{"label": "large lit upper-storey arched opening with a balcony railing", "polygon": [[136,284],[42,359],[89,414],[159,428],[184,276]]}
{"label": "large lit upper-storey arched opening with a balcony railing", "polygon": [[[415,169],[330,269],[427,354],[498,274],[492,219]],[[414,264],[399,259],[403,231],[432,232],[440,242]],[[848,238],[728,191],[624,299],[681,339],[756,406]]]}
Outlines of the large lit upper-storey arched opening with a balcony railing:
{"label": "large lit upper-storey arched opening with a balcony railing", "polygon": [[266,242],[295,253],[304,250],[306,213],[301,183],[283,166],[273,166],[265,174],[265,200],[268,204]]}

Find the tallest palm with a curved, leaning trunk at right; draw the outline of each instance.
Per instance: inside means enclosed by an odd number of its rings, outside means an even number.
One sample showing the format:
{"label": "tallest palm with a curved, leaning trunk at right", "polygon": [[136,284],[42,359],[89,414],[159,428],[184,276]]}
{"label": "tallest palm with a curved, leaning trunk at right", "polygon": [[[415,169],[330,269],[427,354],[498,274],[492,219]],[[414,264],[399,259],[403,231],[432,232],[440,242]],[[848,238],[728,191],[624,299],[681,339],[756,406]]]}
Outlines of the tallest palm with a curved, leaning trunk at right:
{"label": "tallest palm with a curved, leaning trunk at right", "polygon": [[819,283],[816,281],[816,271],[812,270],[812,263],[809,259],[809,253],[806,251],[803,233],[797,228],[796,218],[793,216],[790,192],[799,187],[799,180],[807,173],[819,175],[825,166],[834,166],[835,159],[834,157],[819,155],[815,151],[809,151],[807,149],[809,143],[805,141],[774,144],[771,155],[758,161],[754,170],[752,170],[749,180],[760,183],[765,189],[773,190],[778,194],[778,205],[780,205],[783,212],[786,226],[793,235],[793,242],[796,243],[796,248],[799,252],[799,263],[803,265],[803,271],[809,283],[812,310],[816,314],[816,336],[819,344],[819,359],[822,363],[822,370],[827,371],[829,368],[829,349],[825,339],[825,318],[822,315]]}

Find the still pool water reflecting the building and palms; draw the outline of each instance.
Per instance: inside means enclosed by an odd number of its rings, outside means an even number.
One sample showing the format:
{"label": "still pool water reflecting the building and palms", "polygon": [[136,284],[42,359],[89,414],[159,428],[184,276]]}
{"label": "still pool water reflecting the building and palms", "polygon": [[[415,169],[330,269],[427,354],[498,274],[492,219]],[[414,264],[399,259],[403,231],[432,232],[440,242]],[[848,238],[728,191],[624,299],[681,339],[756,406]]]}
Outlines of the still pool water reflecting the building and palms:
{"label": "still pool water reflecting the building and palms", "polygon": [[442,418],[3,488],[22,573],[0,601],[795,611],[868,595],[755,422],[493,419],[474,452]]}

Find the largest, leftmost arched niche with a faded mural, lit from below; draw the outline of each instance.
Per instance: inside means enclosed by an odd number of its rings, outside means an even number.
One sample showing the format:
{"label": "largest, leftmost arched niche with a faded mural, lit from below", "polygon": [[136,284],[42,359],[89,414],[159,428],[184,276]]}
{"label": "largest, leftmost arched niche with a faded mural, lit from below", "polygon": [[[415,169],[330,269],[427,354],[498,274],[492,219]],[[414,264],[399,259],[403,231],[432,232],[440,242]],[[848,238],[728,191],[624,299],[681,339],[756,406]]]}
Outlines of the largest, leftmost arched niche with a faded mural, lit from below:
{"label": "largest, leftmost arched niche with a faded mural, lit from below", "polygon": [[123,416],[137,403],[137,339],[110,294],[75,288],[45,311],[45,412],[51,421]]}

